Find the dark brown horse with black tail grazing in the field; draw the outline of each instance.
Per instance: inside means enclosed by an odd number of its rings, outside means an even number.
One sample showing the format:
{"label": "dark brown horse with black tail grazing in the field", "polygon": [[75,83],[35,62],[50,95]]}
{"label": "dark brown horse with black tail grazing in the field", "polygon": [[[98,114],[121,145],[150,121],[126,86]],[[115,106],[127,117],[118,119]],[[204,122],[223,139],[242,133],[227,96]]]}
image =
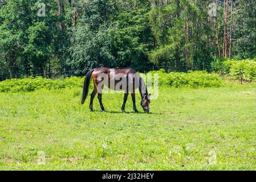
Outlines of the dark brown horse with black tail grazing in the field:
{"label": "dark brown horse with black tail grazing in the field", "polygon": [[121,110],[125,112],[125,104],[127,102],[128,94],[131,93],[133,110],[135,113],[139,113],[135,103],[135,90],[139,88],[141,95],[140,105],[143,107],[145,113],[149,113],[149,96],[147,86],[139,76],[139,74],[131,68],[128,69],[112,69],[112,68],[95,68],[89,71],[84,80],[83,97],[81,104],[84,104],[89,91],[90,80],[94,81],[94,90],[91,93],[90,109],[93,110],[94,98],[97,94],[97,98],[100,102],[101,111],[105,112],[102,104],[102,91],[103,86],[107,86],[109,89],[124,91],[124,102]]}

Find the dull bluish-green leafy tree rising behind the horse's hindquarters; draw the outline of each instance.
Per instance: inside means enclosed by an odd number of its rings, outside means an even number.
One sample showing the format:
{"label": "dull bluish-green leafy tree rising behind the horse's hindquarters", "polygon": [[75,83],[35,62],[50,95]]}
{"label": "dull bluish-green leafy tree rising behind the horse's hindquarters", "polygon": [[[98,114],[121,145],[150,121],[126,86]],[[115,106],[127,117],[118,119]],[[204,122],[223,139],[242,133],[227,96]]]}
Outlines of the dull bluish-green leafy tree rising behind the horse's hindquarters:
{"label": "dull bluish-green leafy tree rising behind the horse's hindquarters", "polygon": [[112,67],[111,38],[108,24],[115,12],[114,1],[90,1],[83,6],[83,19],[79,26],[72,28],[71,59],[67,64],[82,75],[95,67]]}

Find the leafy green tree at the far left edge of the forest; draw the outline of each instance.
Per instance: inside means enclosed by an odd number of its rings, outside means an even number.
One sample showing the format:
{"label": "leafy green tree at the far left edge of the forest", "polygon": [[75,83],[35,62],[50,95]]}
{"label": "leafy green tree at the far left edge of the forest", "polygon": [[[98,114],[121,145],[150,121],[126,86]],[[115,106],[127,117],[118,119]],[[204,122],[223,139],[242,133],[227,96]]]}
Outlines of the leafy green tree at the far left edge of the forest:
{"label": "leafy green tree at the far left edge of the forest", "polygon": [[6,1],[0,9],[0,60],[10,78],[18,78],[24,45],[27,43],[26,28],[29,26],[30,15],[27,1]]}

